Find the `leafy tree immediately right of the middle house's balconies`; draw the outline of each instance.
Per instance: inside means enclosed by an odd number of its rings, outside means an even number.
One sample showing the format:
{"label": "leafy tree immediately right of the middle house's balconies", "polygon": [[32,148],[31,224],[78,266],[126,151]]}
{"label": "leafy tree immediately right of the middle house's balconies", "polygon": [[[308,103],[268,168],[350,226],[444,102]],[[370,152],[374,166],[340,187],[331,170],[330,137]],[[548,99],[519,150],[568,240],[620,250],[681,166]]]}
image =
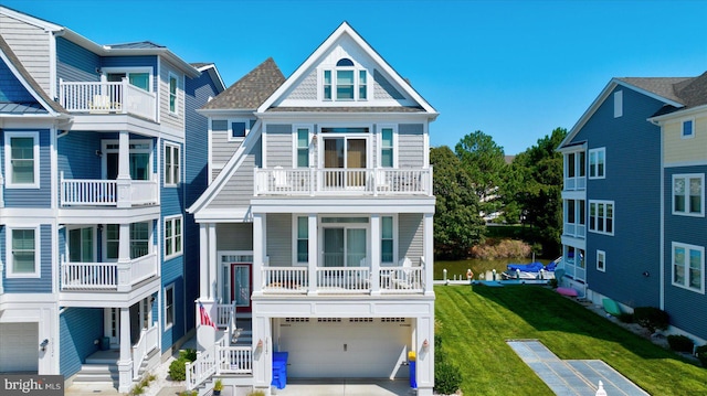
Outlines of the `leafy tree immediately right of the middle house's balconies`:
{"label": "leafy tree immediately right of the middle house's balconies", "polygon": [[479,243],[484,234],[472,179],[446,146],[430,150],[430,163],[434,165],[436,255],[447,259],[466,258],[469,247]]}

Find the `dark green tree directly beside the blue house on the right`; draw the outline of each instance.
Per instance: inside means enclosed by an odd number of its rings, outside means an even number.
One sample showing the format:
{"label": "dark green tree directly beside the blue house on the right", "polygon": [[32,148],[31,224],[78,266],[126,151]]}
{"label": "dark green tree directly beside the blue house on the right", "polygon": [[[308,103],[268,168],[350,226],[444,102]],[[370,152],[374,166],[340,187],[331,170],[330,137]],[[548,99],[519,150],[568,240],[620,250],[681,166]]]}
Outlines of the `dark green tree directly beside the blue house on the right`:
{"label": "dark green tree directly beside the blue house on the right", "polygon": [[515,189],[507,194],[523,213],[523,222],[538,228],[545,255],[559,254],[562,235],[562,154],[557,150],[567,129],[556,128],[550,136],[518,154],[511,164]]}

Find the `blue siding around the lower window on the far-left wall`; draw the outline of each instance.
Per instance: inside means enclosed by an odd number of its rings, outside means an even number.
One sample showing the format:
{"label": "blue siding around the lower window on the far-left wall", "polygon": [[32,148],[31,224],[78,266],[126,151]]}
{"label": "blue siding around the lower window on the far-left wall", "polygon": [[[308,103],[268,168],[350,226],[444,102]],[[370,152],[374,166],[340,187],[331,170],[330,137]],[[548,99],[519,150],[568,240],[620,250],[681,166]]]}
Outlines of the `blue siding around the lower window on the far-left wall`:
{"label": "blue siding around the lower window on the far-left wall", "polygon": [[[1,245],[4,245],[6,228]],[[51,293],[52,292],[52,226],[40,226],[40,278],[6,278],[4,291],[9,293]],[[2,251],[4,256],[4,251]],[[7,271],[7,269],[6,269]],[[6,272],[7,274],[7,272]]]}

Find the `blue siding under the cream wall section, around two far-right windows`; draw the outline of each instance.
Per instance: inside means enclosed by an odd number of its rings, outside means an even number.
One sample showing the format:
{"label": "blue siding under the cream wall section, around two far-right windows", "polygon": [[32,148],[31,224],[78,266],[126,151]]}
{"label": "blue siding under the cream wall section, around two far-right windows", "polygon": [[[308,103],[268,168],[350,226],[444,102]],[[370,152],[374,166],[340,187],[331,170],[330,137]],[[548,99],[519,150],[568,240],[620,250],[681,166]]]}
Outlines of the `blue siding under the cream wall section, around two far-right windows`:
{"label": "blue siding under the cream wall section, around two far-right windows", "polygon": [[[665,202],[665,310],[671,315],[671,324],[688,331],[699,338],[707,339],[707,318],[695,314],[695,307],[705,307],[707,296],[690,291],[672,281],[673,246],[674,242],[707,247],[707,220],[705,217],[682,216],[673,214],[673,175],[680,173],[707,172],[707,165],[667,168],[664,172]],[[704,189],[704,186],[703,186]],[[703,274],[703,285],[707,277]]]}

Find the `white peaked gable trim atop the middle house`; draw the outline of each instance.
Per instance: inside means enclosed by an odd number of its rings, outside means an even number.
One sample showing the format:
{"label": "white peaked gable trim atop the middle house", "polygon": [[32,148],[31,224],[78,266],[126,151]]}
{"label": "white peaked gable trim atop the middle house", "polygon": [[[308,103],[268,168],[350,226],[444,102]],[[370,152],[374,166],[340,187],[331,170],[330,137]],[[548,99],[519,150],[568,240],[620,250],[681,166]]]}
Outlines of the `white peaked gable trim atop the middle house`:
{"label": "white peaked gable trim atop the middle house", "polygon": [[[275,104],[281,97],[287,93],[300,78],[305,76],[305,73],[316,65],[317,62],[344,36],[349,36],[358,47],[363,51],[370,58],[388,75],[393,82],[400,86],[404,93],[414,100],[420,108],[425,113],[434,115],[436,117],[436,110],[409,84],[409,82],[402,78],[394,68],[392,68],[386,60],[383,60],[376,50],[373,50],[358,32],[354,30],[347,22],[342,22],[310,55],[303,62],[299,67],[289,76],[277,90],[271,95],[258,108],[257,113],[265,113]],[[356,111],[356,110],[352,110]]]}

